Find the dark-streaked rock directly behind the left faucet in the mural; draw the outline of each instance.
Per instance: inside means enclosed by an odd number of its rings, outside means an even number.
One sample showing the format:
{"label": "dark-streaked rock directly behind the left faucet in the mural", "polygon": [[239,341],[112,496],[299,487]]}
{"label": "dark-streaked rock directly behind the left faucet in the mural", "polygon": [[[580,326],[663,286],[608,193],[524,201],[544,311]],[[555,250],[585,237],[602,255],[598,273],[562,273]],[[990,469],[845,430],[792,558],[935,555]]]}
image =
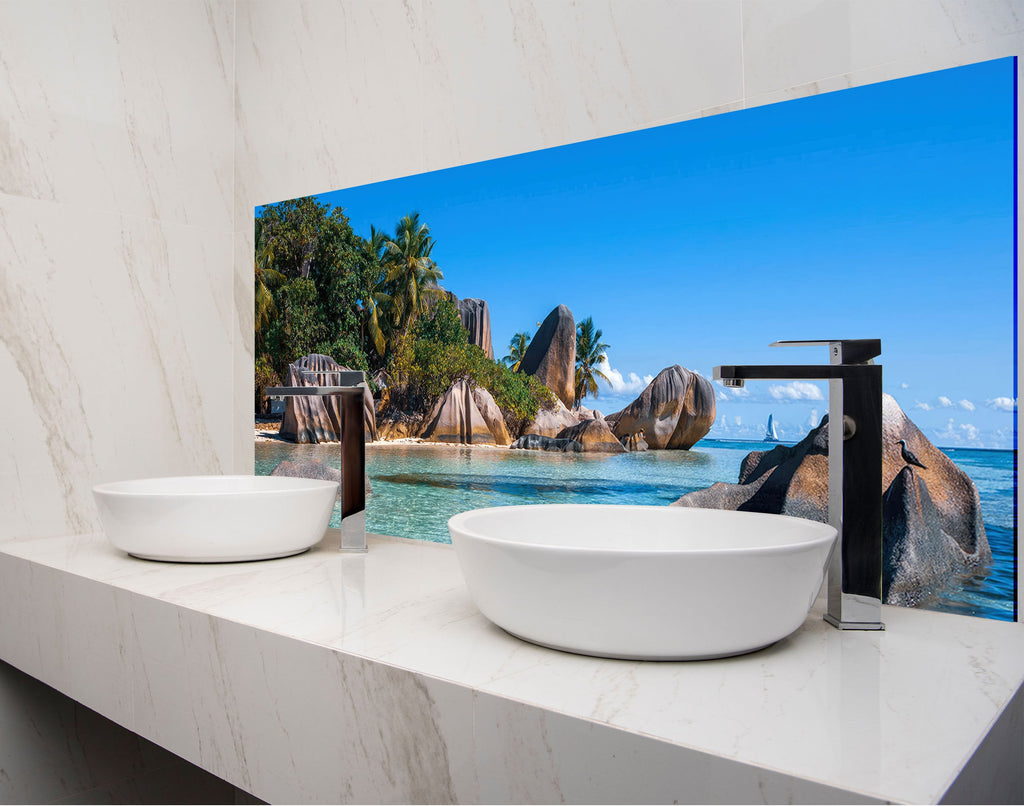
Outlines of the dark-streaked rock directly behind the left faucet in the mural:
{"label": "dark-streaked rock directly behind the left faucet in the mural", "polygon": [[[342,367],[330,355],[311,353],[303,355],[288,366],[286,386],[317,386],[329,385],[330,376],[322,376],[322,382],[307,379],[303,370],[315,372],[337,372],[348,370]],[[377,438],[377,418],[374,397],[370,389],[362,392],[364,438],[374,441]],[[285,419],[281,424],[281,437],[293,442],[316,443],[341,441],[341,400],[335,396],[309,395],[289,397],[285,405]]]}

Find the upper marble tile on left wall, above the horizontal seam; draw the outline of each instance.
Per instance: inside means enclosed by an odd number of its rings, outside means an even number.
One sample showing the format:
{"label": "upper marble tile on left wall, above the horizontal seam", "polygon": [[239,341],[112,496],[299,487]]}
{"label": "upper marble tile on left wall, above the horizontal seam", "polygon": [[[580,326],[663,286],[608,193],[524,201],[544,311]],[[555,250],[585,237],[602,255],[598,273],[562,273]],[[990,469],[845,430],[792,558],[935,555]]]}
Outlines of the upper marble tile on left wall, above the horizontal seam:
{"label": "upper marble tile on left wall, above the horizontal seam", "polygon": [[0,3],[0,192],[230,228],[233,3]]}

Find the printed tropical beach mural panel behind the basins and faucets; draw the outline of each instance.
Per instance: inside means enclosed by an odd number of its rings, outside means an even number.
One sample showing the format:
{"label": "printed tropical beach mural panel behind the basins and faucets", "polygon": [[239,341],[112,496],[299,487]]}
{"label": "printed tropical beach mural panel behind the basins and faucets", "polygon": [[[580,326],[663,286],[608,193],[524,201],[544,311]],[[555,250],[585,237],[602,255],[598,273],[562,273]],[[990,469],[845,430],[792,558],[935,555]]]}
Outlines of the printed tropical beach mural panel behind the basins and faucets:
{"label": "printed tropical beach mural panel behind the basins and faucets", "polygon": [[827,382],[713,369],[880,339],[885,600],[1015,620],[1015,73],[257,208],[256,473],[340,475],[330,405],[263,390],[349,369],[371,533],[449,542],[459,512],[528,503],[827,520]]}

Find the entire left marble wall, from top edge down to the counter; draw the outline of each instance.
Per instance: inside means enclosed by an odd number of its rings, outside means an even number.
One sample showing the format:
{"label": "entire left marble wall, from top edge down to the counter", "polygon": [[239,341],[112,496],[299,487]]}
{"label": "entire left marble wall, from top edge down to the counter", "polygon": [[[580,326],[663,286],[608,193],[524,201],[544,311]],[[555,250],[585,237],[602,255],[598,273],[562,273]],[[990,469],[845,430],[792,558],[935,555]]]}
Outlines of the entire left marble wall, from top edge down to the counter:
{"label": "entire left marble wall, from top edge down to the counter", "polygon": [[0,2],[0,540],[231,465],[233,8]]}

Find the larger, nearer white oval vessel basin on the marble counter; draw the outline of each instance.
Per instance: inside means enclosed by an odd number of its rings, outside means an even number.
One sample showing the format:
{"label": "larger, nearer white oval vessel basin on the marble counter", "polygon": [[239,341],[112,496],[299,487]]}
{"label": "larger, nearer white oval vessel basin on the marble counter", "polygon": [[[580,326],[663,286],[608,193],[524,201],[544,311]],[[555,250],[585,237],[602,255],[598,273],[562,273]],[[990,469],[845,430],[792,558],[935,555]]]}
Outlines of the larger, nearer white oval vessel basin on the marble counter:
{"label": "larger, nearer white oval vessel basin on the marble counter", "polygon": [[807,619],[836,529],[784,515],[540,504],[449,520],[480,611],[527,641],[582,654],[723,657]]}

